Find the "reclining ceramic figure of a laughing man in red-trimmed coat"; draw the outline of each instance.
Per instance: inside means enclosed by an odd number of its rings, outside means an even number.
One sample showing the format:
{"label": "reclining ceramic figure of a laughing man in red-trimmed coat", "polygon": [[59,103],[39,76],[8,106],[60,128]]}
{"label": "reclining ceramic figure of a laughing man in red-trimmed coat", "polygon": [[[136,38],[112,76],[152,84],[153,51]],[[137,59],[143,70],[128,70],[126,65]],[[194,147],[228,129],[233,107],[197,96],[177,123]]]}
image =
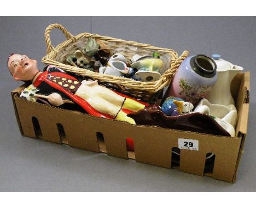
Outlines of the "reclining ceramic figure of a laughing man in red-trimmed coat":
{"label": "reclining ceramic figure of a laughing man in red-trimmed coat", "polygon": [[81,82],[51,65],[46,71],[40,72],[37,69],[37,61],[26,55],[10,54],[7,65],[15,80],[31,81],[38,89],[36,94],[45,95],[44,98],[48,99],[53,106],[59,106],[67,100],[73,101],[96,117],[135,124],[132,118],[127,117],[127,113],[137,112],[147,105],[147,103],[102,87],[97,81],[83,80]]}

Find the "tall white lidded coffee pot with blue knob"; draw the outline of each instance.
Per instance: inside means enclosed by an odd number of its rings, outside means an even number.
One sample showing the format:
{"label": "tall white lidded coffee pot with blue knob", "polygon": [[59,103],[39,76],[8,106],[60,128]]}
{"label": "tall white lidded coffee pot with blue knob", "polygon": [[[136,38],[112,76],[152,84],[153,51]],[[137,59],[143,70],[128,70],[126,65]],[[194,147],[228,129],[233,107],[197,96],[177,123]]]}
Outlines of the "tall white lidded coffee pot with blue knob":
{"label": "tall white lidded coffee pot with blue knob", "polygon": [[214,87],[210,93],[206,96],[206,99],[210,103],[219,105],[234,105],[234,99],[230,93],[230,84],[232,79],[239,71],[242,71],[241,66],[233,65],[226,60],[220,58],[219,54],[213,54],[212,58],[217,64],[218,78]]}

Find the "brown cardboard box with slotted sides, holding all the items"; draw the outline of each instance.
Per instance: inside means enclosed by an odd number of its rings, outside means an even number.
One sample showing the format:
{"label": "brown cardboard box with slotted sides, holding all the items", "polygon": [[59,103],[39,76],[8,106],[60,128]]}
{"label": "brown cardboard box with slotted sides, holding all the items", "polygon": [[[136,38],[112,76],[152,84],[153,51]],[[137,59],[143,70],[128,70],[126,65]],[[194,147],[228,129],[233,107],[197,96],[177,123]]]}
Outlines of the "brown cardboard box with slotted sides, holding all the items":
{"label": "brown cardboard box with slotted sides, holding all the items", "polygon": [[[64,143],[94,152],[106,152],[111,156],[132,158],[137,162],[164,168],[179,168],[182,172],[208,175],[223,181],[236,180],[247,132],[249,72],[238,74],[231,84],[231,93],[236,100],[238,112],[236,137],[131,125],[122,121],[97,118],[20,99],[17,93],[23,88],[24,85],[11,92],[23,136]],[[127,151],[127,137],[133,139],[135,152]],[[178,147],[178,138],[198,140],[199,150],[181,149],[179,166],[174,166],[171,163],[172,156],[174,157],[172,148]],[[214,154],[214,163],[206,169],[206,155],[210,152]]]}

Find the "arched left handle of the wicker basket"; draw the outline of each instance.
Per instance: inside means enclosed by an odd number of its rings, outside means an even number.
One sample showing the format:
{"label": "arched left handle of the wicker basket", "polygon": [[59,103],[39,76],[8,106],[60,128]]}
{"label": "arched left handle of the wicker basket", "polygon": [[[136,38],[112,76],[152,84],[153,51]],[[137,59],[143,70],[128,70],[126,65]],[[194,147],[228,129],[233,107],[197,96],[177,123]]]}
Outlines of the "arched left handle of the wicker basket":
{"label": "arched left handle of the wicker basket", "polygon": [[65,27],[63,27],[62,25],[57,24],[57,23],[51,24],[48,27],[46,27],[45,32],[44,32],[44,39],[46,42],[46,54],[55,50],[53,45],[51,45],[51,39],[50,39],[51,30],[53,30],[55,28],[60,29],[65,34],[67,40],[72,39],[72,42],[77,41],[77,39],[75,39],[74,35],[69,33],[68,30]]}

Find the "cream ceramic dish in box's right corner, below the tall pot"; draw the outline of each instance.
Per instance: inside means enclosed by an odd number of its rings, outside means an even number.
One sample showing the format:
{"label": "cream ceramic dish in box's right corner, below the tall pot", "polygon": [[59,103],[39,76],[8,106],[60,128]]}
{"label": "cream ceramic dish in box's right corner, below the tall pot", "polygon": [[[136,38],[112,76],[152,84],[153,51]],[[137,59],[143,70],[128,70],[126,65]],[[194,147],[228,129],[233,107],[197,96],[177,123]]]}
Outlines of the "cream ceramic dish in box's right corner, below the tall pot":
{"label": "cream ceramic dish in box's right corner, below the tall pot", "polygon": [[211,115],[223,129],[230,133],[231,137],[235,136],[237,111],[234,105],[211,104],[207,99],[202,99],[194,112]]}

